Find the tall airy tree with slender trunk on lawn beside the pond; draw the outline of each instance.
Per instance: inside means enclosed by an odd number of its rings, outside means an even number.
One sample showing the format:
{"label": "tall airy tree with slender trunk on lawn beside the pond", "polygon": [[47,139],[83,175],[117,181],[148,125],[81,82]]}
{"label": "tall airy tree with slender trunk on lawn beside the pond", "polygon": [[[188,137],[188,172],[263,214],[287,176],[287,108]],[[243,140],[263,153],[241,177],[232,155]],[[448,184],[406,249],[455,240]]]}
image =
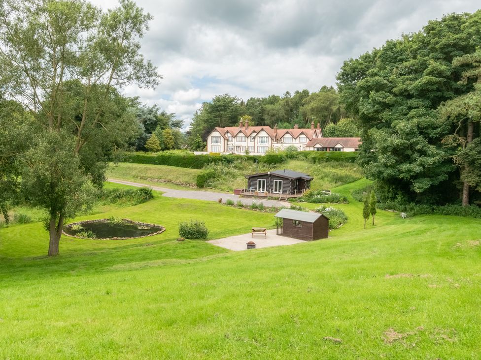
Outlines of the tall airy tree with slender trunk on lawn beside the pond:
{"label": "tall airy tree with slender trunk on lawn beside the pond", "polygon": [[48,213],[48,255],[59,253],[65,218],[102,186],[106,154],[135,132],[118,90],[158,84],[140,53],[149,20],[131,0],[107,11],[82,0],[0,2],[2,88],[41,126],[19,166],[27,198]]}

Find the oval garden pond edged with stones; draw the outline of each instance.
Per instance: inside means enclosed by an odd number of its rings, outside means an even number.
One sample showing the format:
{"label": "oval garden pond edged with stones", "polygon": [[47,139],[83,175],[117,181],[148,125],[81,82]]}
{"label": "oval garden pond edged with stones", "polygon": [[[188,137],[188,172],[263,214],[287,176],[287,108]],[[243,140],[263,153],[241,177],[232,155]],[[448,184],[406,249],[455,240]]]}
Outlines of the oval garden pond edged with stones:
{"label": "oval garden pond edged with stones", "polygon": [[65,235],[81,239],[123,240],[157,235],[165,227],[129,219],[86,220],[64,226]]}

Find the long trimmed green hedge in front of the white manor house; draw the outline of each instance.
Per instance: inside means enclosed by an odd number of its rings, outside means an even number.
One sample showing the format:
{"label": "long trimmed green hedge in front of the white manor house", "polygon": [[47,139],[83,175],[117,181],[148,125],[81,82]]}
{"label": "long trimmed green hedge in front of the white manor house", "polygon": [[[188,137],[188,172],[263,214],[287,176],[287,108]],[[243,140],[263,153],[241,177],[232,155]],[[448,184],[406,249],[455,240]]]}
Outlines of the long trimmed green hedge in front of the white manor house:
{"label": "long trimmed green hedge in front of the white manor house", "polygon": [[216,162],[233,163],[239,160],[249,160],[260,163],[280,164],[286,158],[307,159],[311,163],[317,164],[324,161],[343,161],[354,162],[357,159],[357,152],[341,151],[292,151],[289,153],[278,152],[266,155],[194,155],[192,153],[172,153],[166,151],[157,153],[135,152],[127,153],[124,162],[148,165],[169,165],[180,168],[202,169],[208,164]]}

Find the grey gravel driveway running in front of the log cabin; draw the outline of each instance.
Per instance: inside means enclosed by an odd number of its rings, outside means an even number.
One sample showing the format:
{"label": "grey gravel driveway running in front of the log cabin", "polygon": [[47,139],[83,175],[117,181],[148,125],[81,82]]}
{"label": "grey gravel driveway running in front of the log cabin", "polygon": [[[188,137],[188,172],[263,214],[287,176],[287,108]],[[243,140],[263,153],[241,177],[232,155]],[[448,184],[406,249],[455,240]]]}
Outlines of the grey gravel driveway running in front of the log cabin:
{"label": "grey gravel driveway running in front of the log cabin", "polygon": [[152,186],[152,185],[141,184],[138,182],[127,181],[127,180],[117,180],[117,179],[108,179],[108,181],[115,182],[117,184],[131,185],[131,186],[137,186],[137,187],[148,186],[148,187],[151,187],[152,190],[164,192],[163,196],[167,196],[170,198],[197,199],[197,200],[207,200],[207,201],[219,201],[219,199],[222,198],[223,203],[225,203],[227,199],[231,199],[234,202],[237,202],[240,200],[242,204],[247,204],[247,205],[251,205],[253,202],[255,203],[262,202],[265,206],[275,206],[275,207],[283,206],[285,208],[289,208],[291,206],[290,203],[287,201],[241,198],[239,195],[226,194],[222,192],[174,190],[174,189],[168,189],[160,186]]}

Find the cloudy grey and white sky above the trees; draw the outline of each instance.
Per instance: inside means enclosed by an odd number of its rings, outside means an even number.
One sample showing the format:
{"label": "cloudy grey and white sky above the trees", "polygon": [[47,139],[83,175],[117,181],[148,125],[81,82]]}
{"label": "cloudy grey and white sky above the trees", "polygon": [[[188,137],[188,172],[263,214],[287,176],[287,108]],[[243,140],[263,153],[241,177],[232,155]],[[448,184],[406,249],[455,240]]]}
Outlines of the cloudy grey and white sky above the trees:
{"label": "cloudy grey and white sky above the trees", "polygon": [[[93,0],[103,8],[115,0]],[[154,20],[142,52],[164,77],[124,89],[176,113],[186,126],[203,101],[229,93],[281,95],[335,85],[343,60],[420,30],[477,0],[137,0]]]}

